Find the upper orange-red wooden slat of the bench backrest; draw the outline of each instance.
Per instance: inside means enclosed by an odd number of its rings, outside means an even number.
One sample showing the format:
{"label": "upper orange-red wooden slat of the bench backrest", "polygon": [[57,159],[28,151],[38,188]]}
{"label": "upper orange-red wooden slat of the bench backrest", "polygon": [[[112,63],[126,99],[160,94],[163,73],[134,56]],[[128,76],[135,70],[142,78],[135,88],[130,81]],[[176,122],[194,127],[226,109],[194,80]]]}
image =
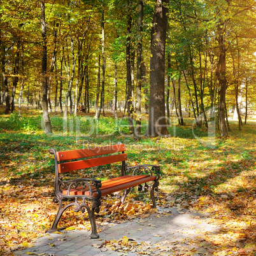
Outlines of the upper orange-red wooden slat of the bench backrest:
{"label": "upper orange-red wooden slat of the bench backrest", "polygon": [[81,150],[69,150],[56,152],[57,161],[94,157],[125,151],[125,144],[97,146],[96,148],[85,148]]}

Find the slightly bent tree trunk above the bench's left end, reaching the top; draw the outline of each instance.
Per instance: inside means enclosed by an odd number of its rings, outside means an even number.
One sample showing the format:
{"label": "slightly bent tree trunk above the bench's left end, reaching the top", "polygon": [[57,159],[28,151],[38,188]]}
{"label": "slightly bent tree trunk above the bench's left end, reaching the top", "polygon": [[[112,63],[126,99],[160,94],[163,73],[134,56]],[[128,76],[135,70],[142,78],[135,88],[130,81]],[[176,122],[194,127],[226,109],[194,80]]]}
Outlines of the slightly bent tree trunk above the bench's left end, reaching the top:
{"label": "slightly bent tree trunk above the bench's left end, reaching the top", "polygon": [[47,107],[47,41],[46,41],[46,22],[45,22],[45,2],[41,0],[41,31],[43,38],[42,49],[42,87],[43,87],[43,119],[45,121],[45,133],[52,133],[52,125]]}

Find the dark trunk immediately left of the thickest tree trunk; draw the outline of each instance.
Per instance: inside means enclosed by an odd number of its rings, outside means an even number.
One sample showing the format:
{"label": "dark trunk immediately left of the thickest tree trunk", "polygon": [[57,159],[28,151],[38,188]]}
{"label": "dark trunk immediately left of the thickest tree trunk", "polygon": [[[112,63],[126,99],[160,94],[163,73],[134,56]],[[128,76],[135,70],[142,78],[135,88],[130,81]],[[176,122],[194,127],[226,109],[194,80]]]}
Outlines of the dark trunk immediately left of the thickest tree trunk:
{"label": "dark trunk immediately left of the thickest tree trunk", "polygon": [[143,32],[143,0],[138,0],[138,45],[137,45],[137,87],[136,87],[136,129],[134,138],[139,140],[141,137],[141,85],[142,85],[142,32]]}

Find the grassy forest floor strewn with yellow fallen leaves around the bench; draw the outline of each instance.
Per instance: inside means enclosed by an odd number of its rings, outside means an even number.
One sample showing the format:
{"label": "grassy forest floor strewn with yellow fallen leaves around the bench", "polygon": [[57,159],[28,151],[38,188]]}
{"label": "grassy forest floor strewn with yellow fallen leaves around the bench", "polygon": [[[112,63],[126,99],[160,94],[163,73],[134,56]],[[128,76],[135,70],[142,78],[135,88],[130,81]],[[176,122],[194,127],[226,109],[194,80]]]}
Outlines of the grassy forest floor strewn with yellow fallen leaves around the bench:
{"label": "grassy forest floor strewn with yellow fallen leaves around the bench", "polygon": [[[1,255],[33,246],[55,218],[54,161],[48,152],[50,148],[71,150],[118,141],[127,145],[129,165],[161,166],[157,192],[160,208],[207,213],[209,223],[221,226],[217,233],[202,230],[205,241],[195,239],[194,243],[210,243],[215,255],[255,255],[255,120],[243,125],[242,131],[238,131],[236,122],[231,122],[232,131],[221,139],[218,131],[211,132],[209,138],[205,129],[192,128],[189,118],[184,127],[173,118],[169,127],[172,136],[136,141],[125,120],[117,122],[109,116],[96,122],[79,113],[78,118],[69,118],[66,125],[62,114],[50,116],[53,135],[46,136],[41,128],[41,111],[24,108],[22,117],[18,117],[17,113],[4,115],[4,108],[0,107]],[[118,166],[90,170],[94,178],[119,173]],[[132,216],[147,218],[154,213],[145,194],[131,192],[123,206],[116,203],[116,198],[108,196],[103,200],[98,222],[122,222]],[[60,226],[90,229],[87,215],[73,211],[64,213]]]}

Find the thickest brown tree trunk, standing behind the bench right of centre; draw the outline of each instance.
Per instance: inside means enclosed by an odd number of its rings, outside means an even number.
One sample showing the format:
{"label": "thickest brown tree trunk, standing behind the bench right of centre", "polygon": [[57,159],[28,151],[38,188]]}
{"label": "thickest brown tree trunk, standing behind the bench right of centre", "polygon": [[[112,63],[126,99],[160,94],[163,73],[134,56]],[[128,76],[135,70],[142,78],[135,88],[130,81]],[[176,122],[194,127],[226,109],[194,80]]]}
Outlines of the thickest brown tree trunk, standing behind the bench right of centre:
{"label": "thickest brown tree trunk, standing behind the bench right of centre", "polygon": [[148,136],[166,136],[168,133],[165,113],[164,71],[169,0],[155,0],[151,34],[150,59],[150,110]]}

